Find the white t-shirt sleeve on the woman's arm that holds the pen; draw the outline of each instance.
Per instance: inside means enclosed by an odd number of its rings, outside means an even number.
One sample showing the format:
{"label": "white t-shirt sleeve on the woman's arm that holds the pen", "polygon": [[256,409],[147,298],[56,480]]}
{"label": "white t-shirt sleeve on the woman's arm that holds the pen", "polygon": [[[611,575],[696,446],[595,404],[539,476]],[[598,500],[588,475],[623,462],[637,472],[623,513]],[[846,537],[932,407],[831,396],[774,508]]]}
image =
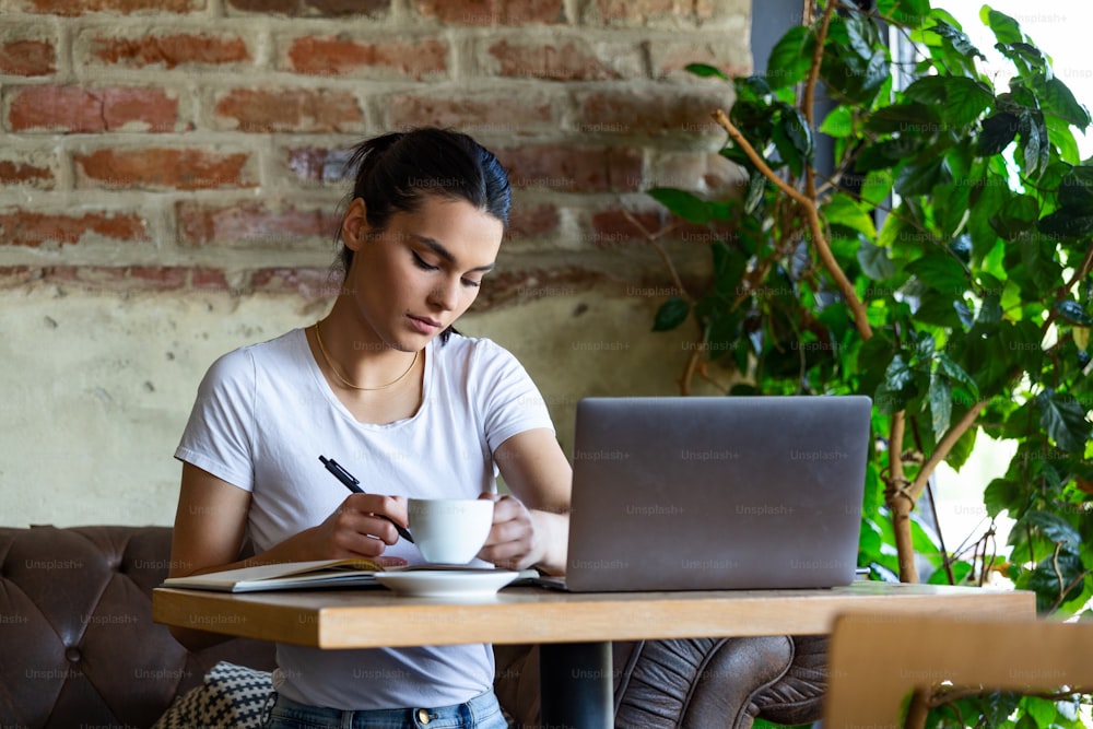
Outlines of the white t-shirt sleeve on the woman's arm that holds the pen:
{"label": "white t-shirt sleeve on the woman's arm that holds the pen", "polygon": [[255,363],[246,350],[220,357],[205,373],[175,458],[252,491]]}

